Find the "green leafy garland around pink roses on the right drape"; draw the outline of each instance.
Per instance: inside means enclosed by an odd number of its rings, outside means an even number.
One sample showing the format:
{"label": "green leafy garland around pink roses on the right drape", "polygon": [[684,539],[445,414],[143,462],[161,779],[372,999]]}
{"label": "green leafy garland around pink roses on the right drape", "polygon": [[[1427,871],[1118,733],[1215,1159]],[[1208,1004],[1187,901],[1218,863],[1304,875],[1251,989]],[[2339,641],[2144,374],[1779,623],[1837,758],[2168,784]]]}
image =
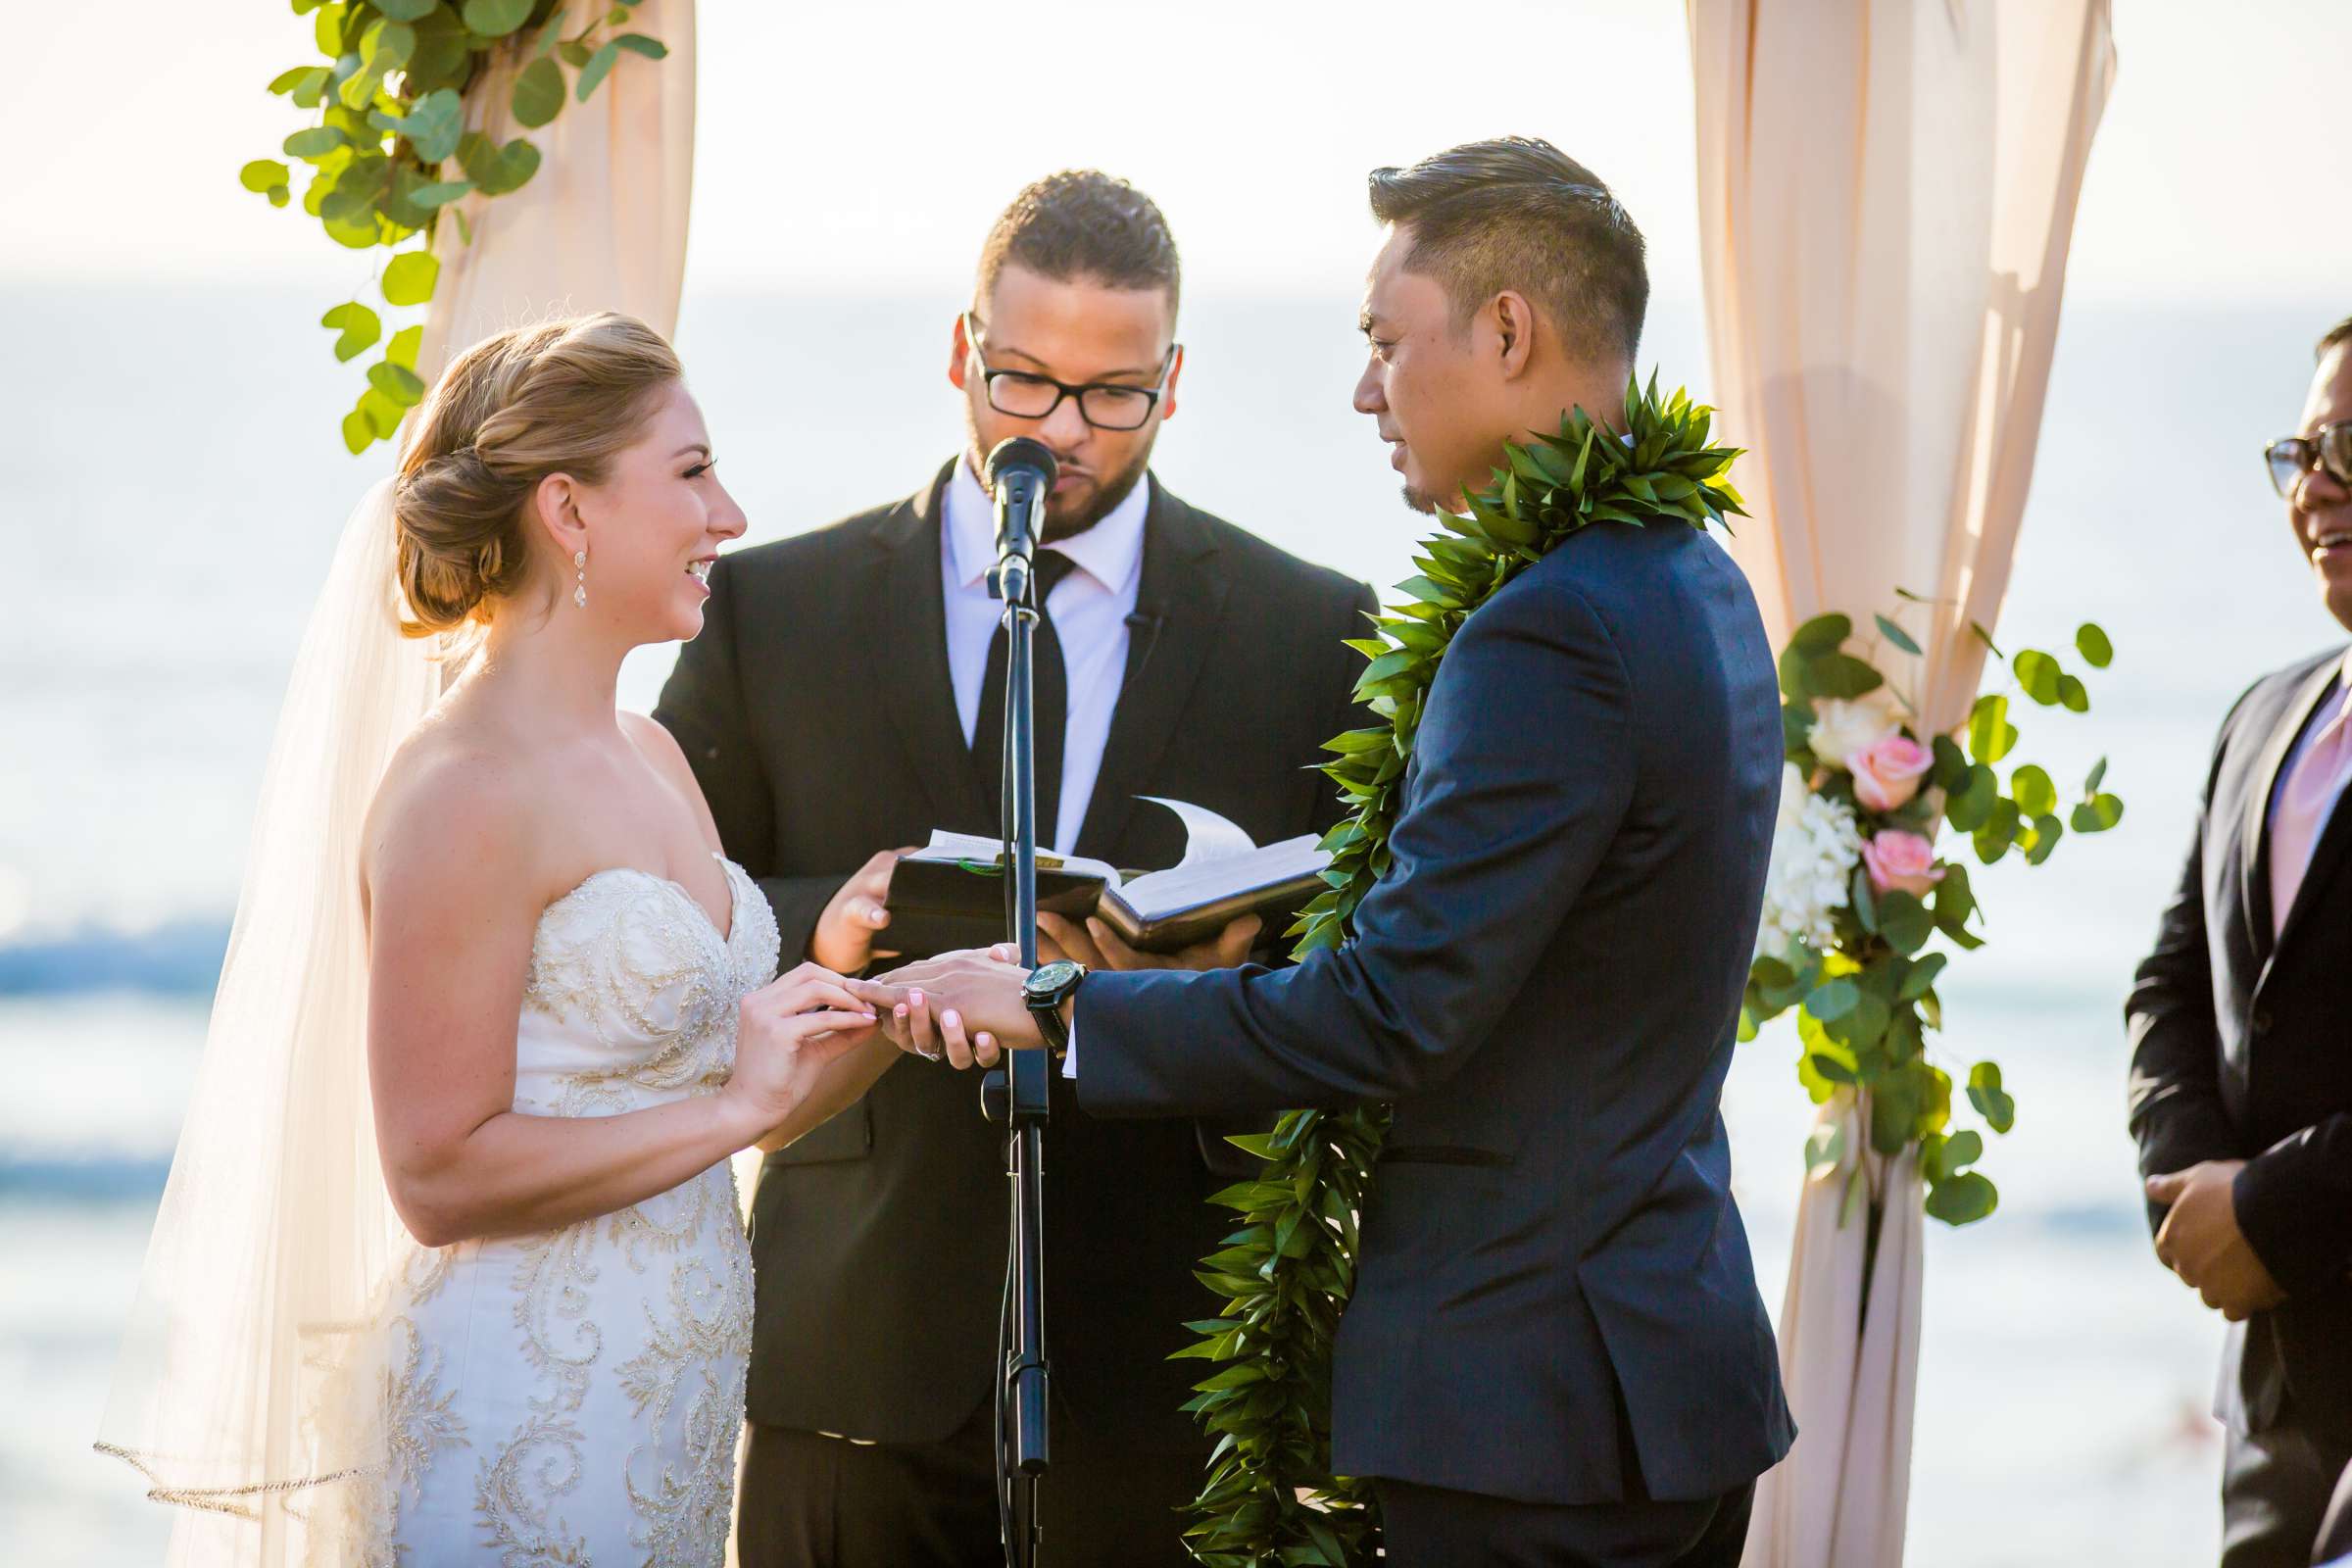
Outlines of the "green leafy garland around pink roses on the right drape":
{"label": "green leafy garland around pink roses on the right drape", "polygon": [[[1917,595],[1898,595],[1924,604]],[[1980,625],[1969,628],[2002,661],[2002,651]],[[1882,844],[1884,835],[1910,837],[1924,858],[1938,825],[1969,835],[1980,865],[1994,865],[2011,851],[2027,865],[2042,865],[2072,832],[2105,832],[2124,818],[2124,802],[2103,785],[2105,759],[2091,769],[2082,790],[2058,820],[2060,797],[2046,769],[2013,766],[2004,785],[1994,764],[2011,757],[2018,726],[2011,724],[2006,691],[1983,693],[1957,736],[1922,736],[1919,719],[1889,684],[1872,654],[1879,644],[1919,654],[1919,644],[1896,621],[1877,616],[1877,637],[1846,651],[1853,623],[1846,616],[1816,616],[1797,628],[1780,654],[1780,733],[1790,769],[1825,806],[1828,818],[1844,820],[1851,844]],[[2098,625],[2074,635],[2082,663],[2103,670],[2114,658],[2114,644]],[[2053,654],[2023,649],[2006,661],[2018,682],[2018,696],[2042,708],[2089,712],[2091,693]],[[1877,715],[1872,719],[1872,715]],[[1844,733],[1846,741],[1823,736]],[[1851,738],[1898,738],[1924,748],[1931,757],[1915,795],[1877,804],[1856,783],[1858,752]],[[1917,766],[1917,762],[1915,762]],[[1797,853],[1825,856],[1816,809],[1811,827],[1797,837],[1811,842]],[[1830,830],[1835,835],[1835,830]],[[1790,853],[1792,827],[1783,823],[1773,853]],[[1952,1074],[1929,1058],[1926,1039],[1943,1030],[1943,1001],[1936,980],[1950,961],[1947,952],[1926,952],[1943,936],[1959,952],[1983,947],[1971,931],[1978,917],[1969,867],[1936,860],[1933,886],[1917,891],[1879,889],[1867,863],[1844,858],[1844,896],[1802,914],[1780,914],[1766,896],[1766,924],[1795,919],[1813,926],[1792,936],[1783,952],[1764,952],[1748,971],[1748,997],[1740,1013],[1740,1039],[1755,1039],[1757,1027],[1778,1013],[1797,1013],[1797,1079],[1813,1103],[1828,1103],[1851,1088],[1867,1112],[1867,1138],[1877,1154],[1900,1154],[1919,1147],[1919,1171],[1926,1180],[1926,1213],[1945,1225],[1969,1225],[1987,1218],[1999,1192],[1980,1171],[1971,1171],[1985,1140],[1973,1128],[1952,1131]],[[2016,1124],[2016,1100],[2002,1088],[1999,1063],[1969,1067],[1969,1105],[1994,1133]],[[1860,1161],[1849,1164],[1844,1131],[1820,1126],[1806,1140],[1806,1171],[1823,1175],[1849,1168],[1844,1215],[1860,1211],[1865,1185]],[[1872,1229],[1872,1234],[1877,1234]]]}

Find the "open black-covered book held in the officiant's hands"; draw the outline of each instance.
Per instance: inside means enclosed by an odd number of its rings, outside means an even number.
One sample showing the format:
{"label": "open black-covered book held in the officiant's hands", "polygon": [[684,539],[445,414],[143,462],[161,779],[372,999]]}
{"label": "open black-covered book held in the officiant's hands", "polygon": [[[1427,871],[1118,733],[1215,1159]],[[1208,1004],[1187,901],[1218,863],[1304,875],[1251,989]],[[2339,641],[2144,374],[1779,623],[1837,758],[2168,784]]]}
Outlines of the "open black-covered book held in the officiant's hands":
{"label": "open black-covered book held in the officiant's hands", "polygon": [[[1120,872],[1103,860],[1040,849],[1042,912],[1073,922],[1098,914],[1129,947],[1174,952],[1242,914],[1261,914],[1270,933],[1282,933],[1324,886],[1331,856],[1312,832],[1261,849],[1214,811],[1157,795],[1141,799],[1183,818],[1183,860],[1162,872]],[[889,914],[882,943],[906,954],[1007,940],[1002,844],[934,832],[927,846],[898,858]]]}

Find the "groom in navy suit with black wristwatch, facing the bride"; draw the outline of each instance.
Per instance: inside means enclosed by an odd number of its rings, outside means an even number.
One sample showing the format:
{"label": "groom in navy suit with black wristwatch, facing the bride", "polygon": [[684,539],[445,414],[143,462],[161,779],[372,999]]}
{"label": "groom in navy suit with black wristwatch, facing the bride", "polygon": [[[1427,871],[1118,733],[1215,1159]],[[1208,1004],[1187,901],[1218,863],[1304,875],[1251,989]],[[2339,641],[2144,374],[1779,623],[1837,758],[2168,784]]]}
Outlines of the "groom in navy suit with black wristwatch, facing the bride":
{"label": "groom in navy suit with black wristwatch, facing the bride", "polygon": [[[1355,407],[1416,505],[1618,407],[1649,280],[1590,172],[1479,141],[1378,169],[1371,212]],[[988,954],[861,990],[1016,1046],[1044,1023],[1096,1117],[1392,1100],[1331,1394],[1390,1561],[1731,1566],[1792,1441],[1719,1114],[1778,790],[1740,571],[1592,524],[1456,635],[1350,947],[1096,969],[1042,1018]]]}

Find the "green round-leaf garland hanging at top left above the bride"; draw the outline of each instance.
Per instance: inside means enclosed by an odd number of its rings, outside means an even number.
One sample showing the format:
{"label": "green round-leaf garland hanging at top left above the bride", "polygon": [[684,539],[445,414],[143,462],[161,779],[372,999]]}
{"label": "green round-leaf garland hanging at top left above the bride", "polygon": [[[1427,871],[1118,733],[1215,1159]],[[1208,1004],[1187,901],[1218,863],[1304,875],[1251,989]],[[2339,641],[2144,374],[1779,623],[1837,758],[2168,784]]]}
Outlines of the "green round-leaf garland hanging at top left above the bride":
{"label": "green round-leaf garland hanging at top left above the bride", "polygon": [[[468,244],[461,195],[506,195],[539,172],[539,148],[527,136],[506,146],[466,129],[466,94],[499,49],[520,49],[529,63],[515,78],[510,110],[517,125],[541,127],[562,113],[564,66],[569,96],[581,103],[612,73],[621,54],[663,59],[668,47],[644,33],[619,33],[630,5],[574,0],[292,0],[313,14],[313,38],[325,56],[294,66],[270,82],[296,108],[318,110],[318,125],[285,139],[285,155],[310,167],[301,207],[327,237],[350,249],[393,249],[379,289],[383,303],[416,308],[433,299],[440,261],[433,230],[442,214]],[[569,28],[572,14],[586,21]],[[449,162],[456,162],[452,169]],[[285,207],[294,172],[285,160],[256,158],[240,183]],[[416,249],[400,249],[416,240]],[[383,317],[358,299],[320,317],[334,331],[334,357],[350,362],[383,341]],[[343,416],[343,444],[367,451],[390,440],[426,386],[416,376],[423,327],[405,327],[367,367],[367,390]]]}

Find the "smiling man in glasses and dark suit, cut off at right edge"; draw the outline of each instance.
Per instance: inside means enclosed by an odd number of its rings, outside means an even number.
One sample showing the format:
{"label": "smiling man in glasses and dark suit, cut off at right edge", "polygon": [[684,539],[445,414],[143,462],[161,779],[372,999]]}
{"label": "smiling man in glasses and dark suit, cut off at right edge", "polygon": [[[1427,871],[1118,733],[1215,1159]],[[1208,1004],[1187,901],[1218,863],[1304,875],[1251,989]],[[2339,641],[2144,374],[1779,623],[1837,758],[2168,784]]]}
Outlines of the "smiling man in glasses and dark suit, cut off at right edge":
{"label": "smiling man in glasses and dark suit, cut off at right edge", "polygon": [[[2270,447],[2296,550],[2352,628],[2352,320]],[[2131,1133],[2157,1255],[2230,1319],[2223,1563],[2303,1568],[2352,1460],[2352,698],[2345,649],[2223,719],[2140,964]]]}

